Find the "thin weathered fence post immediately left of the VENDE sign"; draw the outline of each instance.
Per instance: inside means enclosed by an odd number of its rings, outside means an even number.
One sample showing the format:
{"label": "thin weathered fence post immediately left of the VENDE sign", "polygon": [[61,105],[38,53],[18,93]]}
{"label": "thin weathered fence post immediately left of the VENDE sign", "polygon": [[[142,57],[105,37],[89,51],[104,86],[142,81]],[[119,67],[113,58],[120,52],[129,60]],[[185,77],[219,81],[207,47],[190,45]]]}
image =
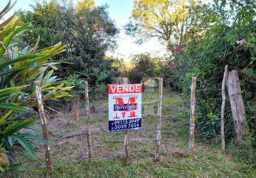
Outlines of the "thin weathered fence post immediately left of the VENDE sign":
{"label": "thin weathered fence post immediately left of the VENDE sign", "polygon": [[90,112],[89,112],[89,89],[88,82],[85,81],[85,106],[87,111],[87,148],[88,148],[88,159],[89,162],[92,162],[92,141],[91,141],[91,130],[90,130]]}

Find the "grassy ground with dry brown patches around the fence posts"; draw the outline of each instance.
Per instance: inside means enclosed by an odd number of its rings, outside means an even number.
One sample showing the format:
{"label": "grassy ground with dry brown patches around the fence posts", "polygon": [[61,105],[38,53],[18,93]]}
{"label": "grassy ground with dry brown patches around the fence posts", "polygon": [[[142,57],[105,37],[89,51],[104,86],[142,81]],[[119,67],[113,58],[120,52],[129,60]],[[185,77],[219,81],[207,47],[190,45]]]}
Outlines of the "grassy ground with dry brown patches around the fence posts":
{"label": "grassy ground with dry brown patches around the fence posts", "polygon": [[[195,151],[187,152],[189,118],[184,117],[179,93],[164,90],[162,110],[161,161],[154,162],[156,140],[157,90],[144,92],[142,103],[149,105],[142,117],[142,130],[129,132],[131,162],[124,166],[122,132],[109,133],[107,127],[107,100],[91,103],[93,162],[87,161],[85,119],[72,120],[72,113],[64,112],[49,121],[51,155],[54,172],[46,174],[44,149],[36,149],[39,158],[19,155],[28,171],[21,177],[256,177],[255,162],[231,147],[224,154],[217,145],[196,142]],[[152,111],[153,110],[153,111]],[[248,155],[250,159],[253,154]]]}

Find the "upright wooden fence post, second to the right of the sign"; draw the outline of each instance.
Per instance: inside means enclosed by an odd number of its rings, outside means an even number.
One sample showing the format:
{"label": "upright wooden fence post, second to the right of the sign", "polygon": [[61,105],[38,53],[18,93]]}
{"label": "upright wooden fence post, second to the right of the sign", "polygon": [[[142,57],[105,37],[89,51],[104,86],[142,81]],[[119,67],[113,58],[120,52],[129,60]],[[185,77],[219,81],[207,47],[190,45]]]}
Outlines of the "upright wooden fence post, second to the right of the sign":
{"label": "upright wooden fence post, second to the right of the sign", "polygon": [[195,139],[195,90],[197,87],[197,78],[192,77],[191,98],[190,98],[190,127],[189,127],[189,151],[194,148]]}

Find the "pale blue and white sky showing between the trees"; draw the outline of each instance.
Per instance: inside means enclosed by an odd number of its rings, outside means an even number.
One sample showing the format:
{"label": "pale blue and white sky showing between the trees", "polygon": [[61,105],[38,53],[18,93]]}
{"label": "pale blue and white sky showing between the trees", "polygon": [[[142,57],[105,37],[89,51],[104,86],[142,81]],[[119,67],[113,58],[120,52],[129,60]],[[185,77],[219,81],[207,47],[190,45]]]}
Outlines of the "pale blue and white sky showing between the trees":
{"label": "pale blue and white sky showing between the trees", "polygon": [[[8,2],[8,0],[0,0],[0,9]],[[14,1],[14,0],[12,0]],[[41,2],[42,0],[17,0],[13,8],[16,10],[29,10],[31,9],[29,4],[36,4],[36,2]],[[119,36],[117,38],[117,48],[114,51],[109,51],[107,55],[113,55],[118,58],[124,58],[125,61],[130,61],[132,55],[138,53],[149,52],[153,56],[161,56],[164,51],[164,46],[162,46],[158,39],[152,39],[138,45],[135,43],[135,38],[125,34],[124,25],[128,23],[129,16],[132,14],[133,0],[94,0],[97,6],[108,4],[109,6],[109,16],[119,28]]]}

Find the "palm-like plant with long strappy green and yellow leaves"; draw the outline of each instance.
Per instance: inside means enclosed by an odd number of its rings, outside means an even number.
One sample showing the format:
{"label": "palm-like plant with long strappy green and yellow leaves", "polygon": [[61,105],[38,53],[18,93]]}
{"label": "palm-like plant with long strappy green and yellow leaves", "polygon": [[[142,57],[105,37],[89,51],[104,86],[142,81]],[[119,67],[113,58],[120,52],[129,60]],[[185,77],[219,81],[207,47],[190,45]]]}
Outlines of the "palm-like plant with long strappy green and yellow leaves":
{"label": "palm-like plant with long strappy green and yellow leaves", "polygon": [[[0,11],[0,19],[11,7],[10,0]],[[61,43],[38,50],[37,41],[33,48],[27,46],[21,52],[18,52],[19,43],[11,45],[11,41],[30,26],[15,15],[0,23],[0,176],[19,166],[9,154],[13,145],[21,145],[32,157],[36,157],[31,140],[45,143],[40,137],[21,132],[35,122],[28,118],[33,112],[31,108],[36,106],[33,81],[41,80],[44,102],[68,96],[72,88],[66,81],[52,76],[57,63],[50,59],[65,51]]]}

